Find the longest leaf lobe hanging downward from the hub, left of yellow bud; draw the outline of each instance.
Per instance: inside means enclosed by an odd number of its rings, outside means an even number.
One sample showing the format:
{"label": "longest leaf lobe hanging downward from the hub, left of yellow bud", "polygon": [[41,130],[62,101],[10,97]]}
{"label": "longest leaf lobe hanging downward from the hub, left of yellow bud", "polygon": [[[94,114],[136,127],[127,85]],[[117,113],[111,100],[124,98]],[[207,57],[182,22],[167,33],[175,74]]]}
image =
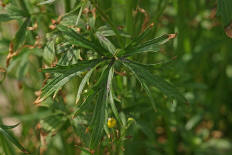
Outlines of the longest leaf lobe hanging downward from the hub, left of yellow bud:
{"label": "longest leaf lobe hanging downward from the hub, left of yellow bud", "polygon": [[109,88],[113,78],[113,68],[109,65],[102,73],[100,82],[95,90],[98,91],[97,103],[91,120],[92,133],[90,139],[90,148],[95,148],[102,137],[104,124],[106,121],[105,108],[109,96]]}

